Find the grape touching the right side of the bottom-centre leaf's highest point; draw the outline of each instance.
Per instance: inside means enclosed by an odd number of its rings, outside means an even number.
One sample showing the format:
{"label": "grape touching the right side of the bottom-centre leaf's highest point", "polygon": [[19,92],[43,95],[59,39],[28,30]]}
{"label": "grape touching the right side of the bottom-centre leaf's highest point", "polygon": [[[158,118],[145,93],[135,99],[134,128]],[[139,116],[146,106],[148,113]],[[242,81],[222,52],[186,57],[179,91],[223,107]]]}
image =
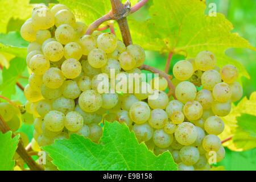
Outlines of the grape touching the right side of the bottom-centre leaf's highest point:
{"label": "grape touching the right side of the bottom-centre leaf's highest point", "polygon": [[139,143],[147,142],[152,138],[154,133],[154,129],[152,129],[152,127],[148,125],[148,123],[135,124],[133,125],[132,130],[134,131]]}

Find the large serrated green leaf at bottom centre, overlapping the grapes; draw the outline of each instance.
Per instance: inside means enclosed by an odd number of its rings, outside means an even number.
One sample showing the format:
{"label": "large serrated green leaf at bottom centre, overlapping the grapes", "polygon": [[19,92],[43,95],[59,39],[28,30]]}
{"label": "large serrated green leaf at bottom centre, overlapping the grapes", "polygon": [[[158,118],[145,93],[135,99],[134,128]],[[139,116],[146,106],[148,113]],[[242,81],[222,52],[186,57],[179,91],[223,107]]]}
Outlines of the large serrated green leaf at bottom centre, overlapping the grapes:
{"label": "large serrated green leaf at bottom centre, overlapping the grapes", "polygon": [[170,152],[156,157],[125,124],[105,122],[100,144],[72,134],[43,147],[60,170],[177,170]]}

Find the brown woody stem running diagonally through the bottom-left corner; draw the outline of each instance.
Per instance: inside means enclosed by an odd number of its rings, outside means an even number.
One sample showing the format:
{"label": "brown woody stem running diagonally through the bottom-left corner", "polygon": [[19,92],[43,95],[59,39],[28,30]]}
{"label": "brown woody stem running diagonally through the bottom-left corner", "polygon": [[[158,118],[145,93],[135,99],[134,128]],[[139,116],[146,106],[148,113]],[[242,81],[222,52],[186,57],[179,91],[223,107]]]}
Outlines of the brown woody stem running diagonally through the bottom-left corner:
{"label": "brown woody stem running diagonally through the bottom-left corner", "polygon": [[[6,133],[7,131],[10,131],[9,126],[6,124],[5,120],[0,115],[0,131],[2,133]],[[12,137],[15,137],[13,134]],[[43,171],[43,168],[40,167],[34,159],[31,158],[31,156],[28,154],[26,149],[23,147],[22,140],[19,139],[18,147],[16,149],[16,152],[19,154],[19,156],[24,160],[25,163],[27,163],[27,166],[32,171]]]}

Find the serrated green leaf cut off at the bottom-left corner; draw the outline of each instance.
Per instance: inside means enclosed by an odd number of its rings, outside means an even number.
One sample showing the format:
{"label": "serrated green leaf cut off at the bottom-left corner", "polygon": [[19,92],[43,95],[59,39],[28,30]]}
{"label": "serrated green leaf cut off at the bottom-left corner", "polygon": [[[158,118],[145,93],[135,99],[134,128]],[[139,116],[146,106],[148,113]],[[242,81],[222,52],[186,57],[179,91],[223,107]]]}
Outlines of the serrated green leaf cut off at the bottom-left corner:
{"label": "serrated green leaf cut off at the bottom-left corner", "polygon": [[19,135],[11,138],[11,131],[8,131],[5,134],[0,132],[0,171],[13,170],[15,162],[12,159],[18,146],[18,142]]}

